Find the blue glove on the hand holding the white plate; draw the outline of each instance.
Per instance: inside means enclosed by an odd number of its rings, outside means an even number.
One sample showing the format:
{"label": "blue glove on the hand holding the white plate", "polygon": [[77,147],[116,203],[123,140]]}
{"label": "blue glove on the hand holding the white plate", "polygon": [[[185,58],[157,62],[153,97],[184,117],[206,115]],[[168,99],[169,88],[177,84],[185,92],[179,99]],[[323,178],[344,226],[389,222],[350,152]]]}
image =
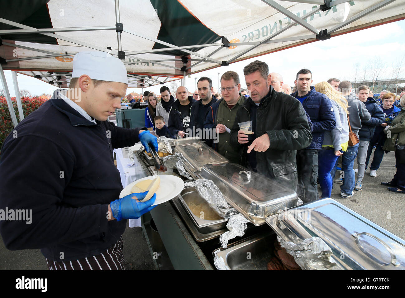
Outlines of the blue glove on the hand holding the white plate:
{"label": "blue glove on the hand holding the white plate", "polygon": [[[130,195],[111,202],[110,207],[113,212],[113,217],[115,217],[117,221],[121,219],[137,219],[141,217],[142,214],[158,206],[151,206],[156,200],[156,193],[146,202],[136,202],[136,199],[145,199],[147,193],[147,191],[144,193],[131,193]],[[132,197],[135,198],[132,199]]]}

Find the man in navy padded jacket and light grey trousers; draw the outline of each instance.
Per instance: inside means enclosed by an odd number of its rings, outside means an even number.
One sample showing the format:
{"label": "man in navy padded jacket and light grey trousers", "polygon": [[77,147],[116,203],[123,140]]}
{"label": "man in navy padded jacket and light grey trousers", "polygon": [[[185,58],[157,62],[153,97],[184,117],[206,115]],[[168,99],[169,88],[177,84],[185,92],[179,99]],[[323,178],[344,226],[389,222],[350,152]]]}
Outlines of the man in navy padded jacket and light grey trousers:
{"label": "man in navy padded jacket and light grey trousers", "polygon": [[384,122],[384,112],[372,97],[368,97],[369,92],[369,86],[365,85],[360,86],[357,92],[358,99],[366,105],[371,118],[369,121],[361,122],[361,129],[358,131],[360,144],[357,151],[357,169],[354,170],[354,172],[357,172],[356,185],[354,186],[355,191],[362,190],[362,181],[366,169],[367,149],[369,148],[369,143],[371,137],[373,137],[375,127]]}

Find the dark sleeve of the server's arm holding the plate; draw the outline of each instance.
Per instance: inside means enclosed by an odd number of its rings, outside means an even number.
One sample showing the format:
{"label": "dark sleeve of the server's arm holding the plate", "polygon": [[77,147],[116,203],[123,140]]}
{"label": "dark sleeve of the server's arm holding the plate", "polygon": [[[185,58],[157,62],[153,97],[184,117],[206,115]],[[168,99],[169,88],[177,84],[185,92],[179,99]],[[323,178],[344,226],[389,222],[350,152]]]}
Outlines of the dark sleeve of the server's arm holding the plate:
{"label": "dark sleeve of the server's arm holding the plate", "polygon": [[[16,164],[20,155],[25,159]],[[75,157],[44,137],[19,137],[3,148],[0,209],[32,212],[31,223],[0,221],[7,249],[40,249],[108,232],[108,204],[81,208],[63,204],[74,167]]]}

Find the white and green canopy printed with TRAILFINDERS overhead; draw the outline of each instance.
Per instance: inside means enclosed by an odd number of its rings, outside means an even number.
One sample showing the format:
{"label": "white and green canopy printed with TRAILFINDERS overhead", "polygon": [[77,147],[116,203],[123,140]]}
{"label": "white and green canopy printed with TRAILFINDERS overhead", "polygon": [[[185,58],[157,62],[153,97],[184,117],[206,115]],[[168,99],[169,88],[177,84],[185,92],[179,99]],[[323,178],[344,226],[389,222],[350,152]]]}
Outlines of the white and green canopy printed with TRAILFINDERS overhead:
{"label": "white and green canopy printed with TRAILFINDERS overhead", "polygon": [[405,18],[404,0],[0,2],[2,69],[55,86],[83,50],[118,56],[142,88]]}

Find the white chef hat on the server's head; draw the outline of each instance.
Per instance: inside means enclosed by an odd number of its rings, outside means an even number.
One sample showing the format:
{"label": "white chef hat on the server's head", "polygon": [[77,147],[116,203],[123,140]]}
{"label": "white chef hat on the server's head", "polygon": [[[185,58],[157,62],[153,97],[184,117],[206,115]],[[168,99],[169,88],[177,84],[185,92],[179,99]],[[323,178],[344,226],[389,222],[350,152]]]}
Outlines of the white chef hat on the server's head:
{"label": "white chef hat on the server's head", "polygon": [[73,58],[73,77],[88,75],[90,79],[128,84],[124,63],[102,51],[83,51]]}

